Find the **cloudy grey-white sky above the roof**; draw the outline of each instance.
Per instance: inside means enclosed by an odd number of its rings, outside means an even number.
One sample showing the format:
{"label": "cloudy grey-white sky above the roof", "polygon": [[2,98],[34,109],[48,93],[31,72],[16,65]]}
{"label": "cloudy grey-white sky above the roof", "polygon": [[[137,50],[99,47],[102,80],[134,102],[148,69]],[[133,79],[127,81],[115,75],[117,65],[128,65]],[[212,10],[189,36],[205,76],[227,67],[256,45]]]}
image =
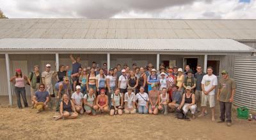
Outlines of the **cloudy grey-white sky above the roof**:
{"label": "cloudy grey-white sky above the roof", "polygon": [[9,18],[256,18],[256,0],[0,0]]}

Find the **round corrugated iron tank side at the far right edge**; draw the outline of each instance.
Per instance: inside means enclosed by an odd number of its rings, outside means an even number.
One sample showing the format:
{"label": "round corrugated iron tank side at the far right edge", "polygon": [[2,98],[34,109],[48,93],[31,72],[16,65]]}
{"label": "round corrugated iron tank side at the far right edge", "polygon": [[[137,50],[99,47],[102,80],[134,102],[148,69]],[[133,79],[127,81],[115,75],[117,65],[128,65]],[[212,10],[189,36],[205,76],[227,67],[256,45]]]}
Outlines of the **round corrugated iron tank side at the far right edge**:
{"label": "round corrugated iron tank side at the far right edge", "polygon": [[256,57],[235,57],[234,79],[236,94],[234,104],[256,111]]}

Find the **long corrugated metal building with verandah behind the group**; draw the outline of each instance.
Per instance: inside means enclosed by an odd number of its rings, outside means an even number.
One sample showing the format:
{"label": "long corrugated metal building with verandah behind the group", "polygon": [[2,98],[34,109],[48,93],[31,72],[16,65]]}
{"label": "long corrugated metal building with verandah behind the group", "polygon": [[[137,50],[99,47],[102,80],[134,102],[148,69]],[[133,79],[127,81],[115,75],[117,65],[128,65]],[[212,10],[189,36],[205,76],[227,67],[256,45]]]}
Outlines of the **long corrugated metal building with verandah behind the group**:
{"label": "long corrugated metal building with verandah behind the group", "polygon": [[[77,53],[83,66],[90,66],[92,61],[100,65],[108,62],[109,67],[124,62],[129,66],[132,62],[138,66],[151,62],[156,67],[163,62],[182,68],[200,64],[204,69],[206,65],[215,67],[216,75],[227,69],[237,81],[236,104],[256,110],[255,92],[248,93],[248,102],[254,105],[243,104],[241,97],[241,87],[256,85],[250,80],[243,85],[238,82],[243,78],[237,76],[241,70],[234,65],[240,57],[254,60],[255,25],[256,20],[3,19],[0,95],[8,95],[10,87],[6,82],[7,63],[12,76],[15,67],[29,73],[35,64],[41,71],[46,63],[71,65],[68,54]],[[255,64],[248,64],[253,69]]]}

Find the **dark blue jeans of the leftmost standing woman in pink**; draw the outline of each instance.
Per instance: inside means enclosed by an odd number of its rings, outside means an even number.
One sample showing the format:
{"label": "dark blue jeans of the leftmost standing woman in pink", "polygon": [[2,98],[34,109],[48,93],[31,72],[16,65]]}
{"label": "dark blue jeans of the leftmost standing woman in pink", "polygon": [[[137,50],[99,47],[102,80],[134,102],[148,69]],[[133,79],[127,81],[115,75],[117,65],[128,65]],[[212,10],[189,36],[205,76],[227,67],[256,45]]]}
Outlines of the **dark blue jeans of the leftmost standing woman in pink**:
{"label": "dark blue jeans of the leftmost standing woman in pink", "polygon": [[25,108],[28,107],[28,102],[27,102],[27,99],[26,99],[26,89],[25,89],[25,87],[15,87],[14,90],[15,90],[15,94],[17,96],[18,107],[22,108],[21,101],[20,101],[20,94],[21,94],[22,100],[24,102]]}

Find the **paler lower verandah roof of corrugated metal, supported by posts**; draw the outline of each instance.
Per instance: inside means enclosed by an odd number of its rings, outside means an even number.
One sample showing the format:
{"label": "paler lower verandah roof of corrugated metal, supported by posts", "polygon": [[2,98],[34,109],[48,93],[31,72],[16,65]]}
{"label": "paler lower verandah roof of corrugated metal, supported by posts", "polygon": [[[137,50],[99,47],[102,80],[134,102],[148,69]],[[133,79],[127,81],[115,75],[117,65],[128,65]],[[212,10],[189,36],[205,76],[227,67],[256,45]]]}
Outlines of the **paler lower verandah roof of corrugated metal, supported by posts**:
{"label": "paler lower verandah roof of corrugated metal, supported by posts", "polygon": [[0,51],[256,52],[232,39],[0,39]]}

